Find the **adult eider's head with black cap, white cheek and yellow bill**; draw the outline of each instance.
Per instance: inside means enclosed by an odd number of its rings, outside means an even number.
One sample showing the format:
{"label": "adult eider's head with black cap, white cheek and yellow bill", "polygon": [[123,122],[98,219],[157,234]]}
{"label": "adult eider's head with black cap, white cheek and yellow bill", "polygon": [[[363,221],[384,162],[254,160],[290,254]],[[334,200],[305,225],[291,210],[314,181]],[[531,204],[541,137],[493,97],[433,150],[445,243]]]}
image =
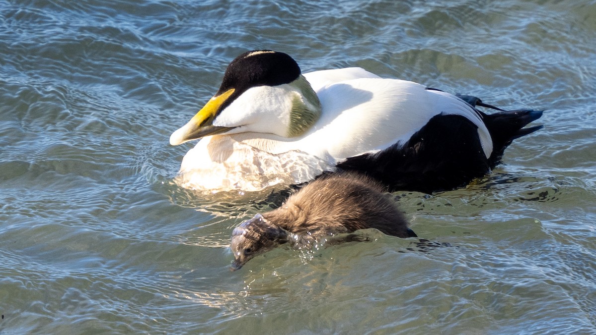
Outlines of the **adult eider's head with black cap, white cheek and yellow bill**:
{"label": "adult eider's head with black cap, white cheek and yellow bill", "polygon": [[318,96],[283,52],[255,50],[235,58],[218,92],[170,136],[171,145],[215,134],[300,136],[321,116]]}

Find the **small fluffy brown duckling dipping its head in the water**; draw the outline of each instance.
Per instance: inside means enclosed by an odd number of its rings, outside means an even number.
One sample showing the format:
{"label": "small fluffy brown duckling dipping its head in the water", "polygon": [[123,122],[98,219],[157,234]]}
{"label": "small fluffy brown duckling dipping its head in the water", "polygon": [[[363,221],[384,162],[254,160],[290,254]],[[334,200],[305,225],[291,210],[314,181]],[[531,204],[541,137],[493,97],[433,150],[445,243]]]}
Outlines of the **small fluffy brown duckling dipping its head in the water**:
{"label": "small fluffy brown duckling dipping its head in the water", "polygon": [[[324,237],[359,229],[376,228],[388,235],[417,237],[385,189],[355,173],[327,174],[311,181],[279,208],[257,214],[234,228],[231,270],[284,243],[312,245]],[[347,235],[344,240],[361,239]]]}

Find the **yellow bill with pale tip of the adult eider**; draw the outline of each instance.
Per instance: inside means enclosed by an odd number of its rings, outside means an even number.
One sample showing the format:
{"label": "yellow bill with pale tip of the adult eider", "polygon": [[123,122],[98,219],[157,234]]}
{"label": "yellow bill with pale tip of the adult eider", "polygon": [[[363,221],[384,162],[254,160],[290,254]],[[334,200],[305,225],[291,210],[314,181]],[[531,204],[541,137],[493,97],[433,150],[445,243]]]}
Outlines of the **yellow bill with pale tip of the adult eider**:
{"label": "yellow bill with pale tip of the adult eider", "polygon": [[170,145],[179,145],[204,136],[225,133],[233,128],[213,126],[213,120],[221,110],[222,105],[234,93],[234,89],[226,90],[220,95],[213,96],[187,124],[176,130],[170,136]]}

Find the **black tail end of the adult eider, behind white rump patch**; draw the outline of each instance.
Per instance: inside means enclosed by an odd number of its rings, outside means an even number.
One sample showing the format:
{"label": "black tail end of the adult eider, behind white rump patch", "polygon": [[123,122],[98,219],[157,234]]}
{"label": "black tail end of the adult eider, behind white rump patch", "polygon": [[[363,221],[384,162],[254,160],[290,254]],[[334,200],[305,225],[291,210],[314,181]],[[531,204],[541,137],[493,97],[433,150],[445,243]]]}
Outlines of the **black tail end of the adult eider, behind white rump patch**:
{"label": "black tail end of the adult eider, behind white rump patch", "polygon": [[532,121],[538,120],[542,116],[543,111],[536,111],[535,109],[516,109],[514,111],[505,111],[501,108],[494,107],[483,103],[479,98],[469,95],[458,95],[460,99],[467,102],[471,107],[477,106],[495,109],[498,112],[493,114],[482,114],[484,123],[492,137],[492,154],[489,158],[489,165],[491,168],[495,167],[501,158],[505,148],[513,142],[514,139],[525,136],[527,134],[536,132],[542,126],[524,128]]}

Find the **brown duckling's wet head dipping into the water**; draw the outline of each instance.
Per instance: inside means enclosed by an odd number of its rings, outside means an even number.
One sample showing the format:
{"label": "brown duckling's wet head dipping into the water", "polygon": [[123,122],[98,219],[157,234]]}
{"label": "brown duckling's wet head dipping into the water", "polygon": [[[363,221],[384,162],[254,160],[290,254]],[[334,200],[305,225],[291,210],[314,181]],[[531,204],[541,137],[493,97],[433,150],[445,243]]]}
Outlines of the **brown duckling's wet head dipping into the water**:
{"label": "brown duckling's wet head dipping into the water", "polygon": [[240,269],[256,255],[288,242],[288,232],[257,214],[232,231],[230,249],[234,253],[231,271]]}

